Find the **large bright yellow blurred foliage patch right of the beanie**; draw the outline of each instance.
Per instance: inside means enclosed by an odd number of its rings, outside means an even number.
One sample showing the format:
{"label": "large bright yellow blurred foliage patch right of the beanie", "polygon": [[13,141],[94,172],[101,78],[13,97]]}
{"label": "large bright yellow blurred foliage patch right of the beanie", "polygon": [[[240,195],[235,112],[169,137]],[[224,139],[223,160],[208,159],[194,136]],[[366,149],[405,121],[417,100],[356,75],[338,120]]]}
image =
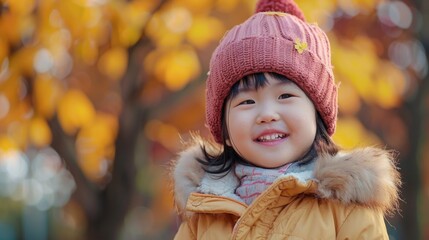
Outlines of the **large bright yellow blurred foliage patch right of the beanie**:
{"label": "large bright yellow blurred foliage patch right of the beanie", "polygon": [[332,43],[332,61],[339,81],[349,82],[369,103],[384,108],[400,104],[405,91],[404,76],[391,63],[376,55],[375,45],[370,39],[358,37],[352,42],[339,44],[334,38]]}

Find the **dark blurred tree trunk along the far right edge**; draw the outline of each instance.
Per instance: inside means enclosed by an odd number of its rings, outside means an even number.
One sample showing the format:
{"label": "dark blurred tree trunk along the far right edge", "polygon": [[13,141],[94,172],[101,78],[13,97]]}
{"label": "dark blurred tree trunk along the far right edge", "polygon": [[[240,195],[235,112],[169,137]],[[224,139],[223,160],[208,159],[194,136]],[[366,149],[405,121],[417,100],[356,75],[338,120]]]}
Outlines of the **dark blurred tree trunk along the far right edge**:
{"label": "dark blurred tree trunk along the far right edge", "polygon": [[[421,17],[421,29],[416,38],[423,44],[426,57],[429,55],[429,25],[427,12],[429,12],[429,4],[427,1],[415,0],[414,6],[419,9]],[[416,17],[417,18],[417,17]],[[428,109],[425,102],[428,100],[429,94],[429,75],[424,79],[420,79],[416,96],[404,105],[403,117],[408,126],[408,139],[410,149],[407,153],[401,153],[400,168],[403,179],[401,215],[402,215],[402,234],[399,239],[423,239],[423,229],[420,227],[422,219],[421,213],[422,204],[419,196],[422,194],[422,178],[421,178],[421,161],[423,161],[424,146],[427,141],[425,138],[425,129],[428,128]],[[408,113],[408,114],[407,114]],[[419,205],[420,204],[420,205]]]}

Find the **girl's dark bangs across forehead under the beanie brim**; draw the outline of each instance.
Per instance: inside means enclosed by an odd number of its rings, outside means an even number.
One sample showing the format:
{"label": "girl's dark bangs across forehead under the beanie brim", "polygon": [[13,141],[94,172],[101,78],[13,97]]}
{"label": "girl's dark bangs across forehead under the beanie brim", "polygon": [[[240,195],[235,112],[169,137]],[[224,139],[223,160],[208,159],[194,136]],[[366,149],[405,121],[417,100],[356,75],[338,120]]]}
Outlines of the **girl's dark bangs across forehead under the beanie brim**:
{"label": "girl's dark bangs across forehead under the beanie brim", "polygon": [[234,98],[237,96],[241,91],[243,90],[255,90],[257,91],[261,87],[265,87],[268,83],[267,76],[271,76],[272,78],[279,80],[279,81],[290,81],[288,78],[286,78],[283,75],[280,75],[278,73],[255,73],[250,74],[242,79],[240,79],[238,82],[236,82],[231,87],[230,95],[228,99]]}

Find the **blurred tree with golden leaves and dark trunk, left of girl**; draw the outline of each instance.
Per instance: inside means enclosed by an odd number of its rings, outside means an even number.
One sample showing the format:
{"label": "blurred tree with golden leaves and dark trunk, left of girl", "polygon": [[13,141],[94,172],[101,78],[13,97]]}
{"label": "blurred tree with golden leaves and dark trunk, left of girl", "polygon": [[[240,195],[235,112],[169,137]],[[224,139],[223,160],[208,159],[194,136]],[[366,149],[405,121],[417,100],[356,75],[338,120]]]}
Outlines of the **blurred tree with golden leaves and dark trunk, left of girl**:
{"label": "blurred tree with golden leaves and dark trunk, left of girl", "polygon": [[[236,4],[224,2],[221,12]],[[175,127],[149,120],[201,84],[197,50],[224,31],[209,15],[214,5],[1,2],[0,147],[58,152],[77,186],[78,207],[65,209],[83,213],[70,214],[83,220],[85,238],[118,237],[135,196],[137,163],[151,158],[140,145],[147,143],[142,127],[164,145],[178,144]]]}

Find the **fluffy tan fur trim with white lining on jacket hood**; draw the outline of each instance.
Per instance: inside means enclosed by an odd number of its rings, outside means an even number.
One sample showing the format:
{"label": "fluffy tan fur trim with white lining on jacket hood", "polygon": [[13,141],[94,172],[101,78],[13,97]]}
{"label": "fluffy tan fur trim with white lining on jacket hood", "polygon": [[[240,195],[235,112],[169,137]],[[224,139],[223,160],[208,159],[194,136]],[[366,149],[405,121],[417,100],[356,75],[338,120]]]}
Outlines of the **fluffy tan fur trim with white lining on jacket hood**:
{"label": "fluffy tan fur trim with white lining on jacket hood", "polygon": [[[210,154],[220,152],[220,146],[194,137],[194,142],[179,154],[175,162],[172,174],[179,212],[185,209],[192,192],[236,198],[233,193],[239,181],[233,171],[222,179],[213,180],[196,160],[204,159],[202,146]],[[373,147],[339,152],[335,156],[319,157],[312,173],[308,172],[304,170],[290,175],[301,182],[309,179],[317,182],[317,196],[320,198],[337,199],[344,204],[362,204],[381,209],[384,213],[397,210],[401,180],[393,152]]]}

